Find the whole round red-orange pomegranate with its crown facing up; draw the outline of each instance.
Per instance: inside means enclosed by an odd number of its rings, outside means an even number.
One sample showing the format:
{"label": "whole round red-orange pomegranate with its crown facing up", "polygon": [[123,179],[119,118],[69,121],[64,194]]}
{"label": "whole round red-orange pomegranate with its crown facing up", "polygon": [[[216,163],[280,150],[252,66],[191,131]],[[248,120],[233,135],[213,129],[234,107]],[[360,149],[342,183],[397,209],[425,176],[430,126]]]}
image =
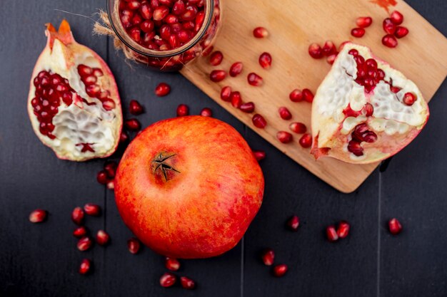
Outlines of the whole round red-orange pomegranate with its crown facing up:
{"label": "whole round red-orange pomegranate with its crown facing up", "polygon": [[115,197],[127,226],[172,258],[218,256],[261,207],[263,174],[243,137],[209,117],[162,120],[127,147]]}

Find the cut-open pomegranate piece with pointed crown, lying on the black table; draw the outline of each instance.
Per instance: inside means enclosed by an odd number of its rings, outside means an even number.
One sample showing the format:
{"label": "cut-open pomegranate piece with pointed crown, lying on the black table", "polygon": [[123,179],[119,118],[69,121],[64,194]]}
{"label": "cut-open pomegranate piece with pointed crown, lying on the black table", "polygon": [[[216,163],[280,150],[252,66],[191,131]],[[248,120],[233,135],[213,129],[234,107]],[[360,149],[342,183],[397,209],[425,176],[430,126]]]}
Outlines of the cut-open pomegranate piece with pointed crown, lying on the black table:
{"label": "cut-open pomegranate piece with pointed crown, lying on the black table", "polygon": [[60,159],[108,157],[123,125],[114,75],[97,53],[74,40],[66,20],[59,31],[47,24],[45,33],[28,95],[34,132]]}

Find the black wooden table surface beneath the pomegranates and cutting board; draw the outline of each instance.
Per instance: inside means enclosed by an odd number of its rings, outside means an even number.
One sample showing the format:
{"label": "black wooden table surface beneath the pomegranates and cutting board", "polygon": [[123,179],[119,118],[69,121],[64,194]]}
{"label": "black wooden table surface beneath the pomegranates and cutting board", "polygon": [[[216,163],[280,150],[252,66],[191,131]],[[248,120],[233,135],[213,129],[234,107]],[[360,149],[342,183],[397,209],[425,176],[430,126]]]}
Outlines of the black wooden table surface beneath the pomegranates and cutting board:
{"label": "black wooden table surface beneath the pomegranates and cutting board", "polygon": [[[445,0],[408,0],[444,35]],[[154,73],[129,66],[104,36],[92,35],[98,9],[106,0],[2,1],[0,11],[0,296],[447,296],[447,84],[430,103],[431,118],[388,167],[375,170],[352,194],[341,194],[276,150],[228,114],[179,73]],[[67,14],[70,13],[84,15]],[[117,212],[114,194],[96,182],[104,160],[76,163],[58,160],[34,135],[26,113],[29,79],[44,48],[44,26],[66,18],[76,39],[93,48],[116,76],[124,116],[131,99],[146,113],[144,126],[175,115],[186,103],[191,113],[210,107],[214,116],[241,132],[253,149],[265,150],[261,162],[266,190],[263,205],[243,240],[214,259],[181,261],[179,275],[194,278],[195,291],[161,288],[164,258],[145,248],[131,255],[131,231]],[[411,34],[411,33],[410,33]],[[427,48],[431,51],[431,48]],[[411,63],[409,61],[408,63]],[[172,85],[156,98],[160,82]],[[119,154],[112,160],[119,160]],[[106,229],[111,245],[81,253],[72,236],[71,210],[86,202],[100,204],[104,215],[89,217],[91,230]],[[49,219],[31,224],[31,210],[44,208]],[[298,232],[284,228],[297,214]],[[398,236],[387,222],[403,224]],[[324,229],[340,220],[351,234],[329,243]],[[265,247],[289,271],[273,278],[259,260]],[[93,259],[90,276],[77,272],[81,259]]]}

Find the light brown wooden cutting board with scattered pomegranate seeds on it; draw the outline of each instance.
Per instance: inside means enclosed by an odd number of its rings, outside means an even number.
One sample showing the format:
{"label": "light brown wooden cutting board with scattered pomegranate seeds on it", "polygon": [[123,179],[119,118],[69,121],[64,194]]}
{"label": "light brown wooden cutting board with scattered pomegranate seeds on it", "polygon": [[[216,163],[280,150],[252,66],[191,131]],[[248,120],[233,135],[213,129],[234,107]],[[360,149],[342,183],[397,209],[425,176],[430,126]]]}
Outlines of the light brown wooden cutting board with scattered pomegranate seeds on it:
{"label": "light brown wooden cutting board with scattered pomegranate seeds on it", "polygon": [[[426,100],[433,97],[446,78],[447,39],[403,1],[398,1],[396,6],[389,6],[389,10],[401,11],[405,17],[403,26],[410,33],[399,40],[398,47],[393,49],[381,44],[384,35],[382,21],[388,12],[384,8],[386,5],[381,7],[377,2],[393,3],[396,2],[394,0],[221,1],[224,5],[224,25],[214,48],[224,53],[224,61],[220,66],[213,67],[207,58],[203,58],[184,68],[181,73],[278,150],[341,192],[357,189],[378,163],[351,165],[331,158],[316,161],[309,149],[299,145],[300,135],[294,135],[293,142],[287,145],[276,140],[276,132],[288,131],[291,121],[303,122],[310,127],[311,103],[292,103],[288,94],[294,88],[310,88],[315,92],[330,69],[325,59],[316,61],[308,56],[309,44],[318,42],[323,45],[324,41],[330,39],[337,46],[347,40],[369,46],[376,56],[388,61],[413,80],[421,88]],[[353,38],[350,34],[358,16],[373,17],[373,24],[366,29],[363,38]],[[268,28],[270,36],[254,38],[252,32],[256,26]],[[264,51],[273,56],[273,65],[268,71],[258,64],[258,57]],[[220,83],[209,80],[212,70],[228,71],[235,61],[244,64],[241,75],[236,78],[228,75]],[[263,77],[263,86],[248,85],[247,74],[250,72]],[[256,104],[256,113],[263,115],[268,122],[265,129],[254,127],[252,115],[242,113],[220,99],[221,88],[225,85],[240,91],[244,102],[253,101]],[[279,118],[280,106],[291,110],[291,121]],[[415,141],[418,141],[417,138]]]}

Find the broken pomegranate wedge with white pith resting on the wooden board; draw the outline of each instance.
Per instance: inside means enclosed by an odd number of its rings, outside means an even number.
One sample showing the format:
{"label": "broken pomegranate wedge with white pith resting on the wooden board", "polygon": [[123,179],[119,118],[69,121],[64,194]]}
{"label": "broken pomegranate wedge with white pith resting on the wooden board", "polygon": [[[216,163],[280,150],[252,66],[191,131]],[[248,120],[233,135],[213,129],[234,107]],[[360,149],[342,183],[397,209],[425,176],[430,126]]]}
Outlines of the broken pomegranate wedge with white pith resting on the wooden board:
{"label": "broken pomegranate wedge with white pith resting on the wooden board", "polygon": [[415,83],[366,46],[345,43],[313,99],[311,152],[317,159],[378,162],[406,147],[428,116]]}

